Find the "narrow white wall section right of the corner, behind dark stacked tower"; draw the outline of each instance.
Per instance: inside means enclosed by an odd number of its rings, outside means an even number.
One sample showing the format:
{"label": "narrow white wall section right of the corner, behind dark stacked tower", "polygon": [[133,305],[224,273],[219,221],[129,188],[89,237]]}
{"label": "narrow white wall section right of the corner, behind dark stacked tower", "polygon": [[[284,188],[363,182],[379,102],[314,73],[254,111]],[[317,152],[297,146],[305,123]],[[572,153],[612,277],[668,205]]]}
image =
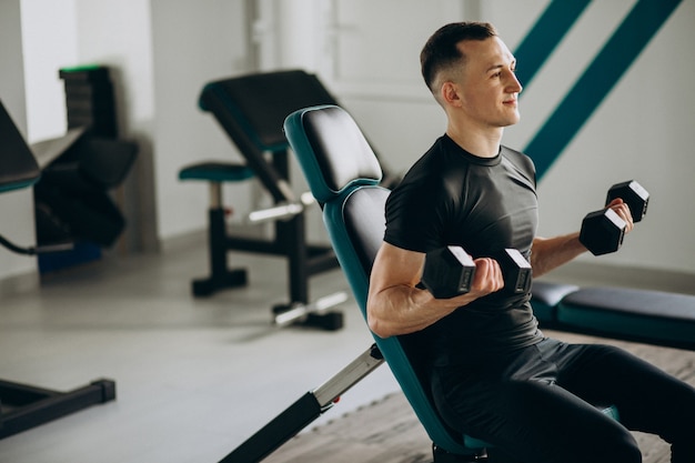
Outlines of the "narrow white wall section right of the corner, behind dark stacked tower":
{"label": "narrow white wall section right of the corner, behind dark stacked tower", "polygon": [[[78,61],[109,67],[113,83],[119,137],[138,142],[137,162],[113,197],[128,227],[117,249],[158,249],[157,198],[152,147],[154,70],[151,12],[148,0],[72,0],[78,36]],[[64,103],[63,103],[64,104]]]}

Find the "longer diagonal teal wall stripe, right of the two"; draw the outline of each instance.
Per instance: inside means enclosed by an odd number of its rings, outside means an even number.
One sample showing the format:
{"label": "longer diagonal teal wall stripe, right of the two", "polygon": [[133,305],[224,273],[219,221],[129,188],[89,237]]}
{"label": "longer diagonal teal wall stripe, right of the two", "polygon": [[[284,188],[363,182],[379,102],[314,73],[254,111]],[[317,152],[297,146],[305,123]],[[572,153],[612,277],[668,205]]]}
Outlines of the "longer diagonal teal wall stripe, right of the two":
{"label": "longer diagonal teal wall stripe, right of the two", "polygon": [[639,0],[524,150],[541,179],[682,0]]}

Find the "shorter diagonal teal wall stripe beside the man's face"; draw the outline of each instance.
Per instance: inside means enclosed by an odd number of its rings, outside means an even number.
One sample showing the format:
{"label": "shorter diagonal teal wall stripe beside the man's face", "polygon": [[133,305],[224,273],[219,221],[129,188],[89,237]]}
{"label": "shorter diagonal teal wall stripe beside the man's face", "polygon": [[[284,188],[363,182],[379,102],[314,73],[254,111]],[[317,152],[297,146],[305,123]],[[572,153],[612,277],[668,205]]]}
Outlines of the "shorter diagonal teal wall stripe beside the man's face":
{"label": "shorter diagonal teal wall stripe beside the man's face", "polygon": [[528,85],[591,0],[553,0],[516,48],[516,78]]}

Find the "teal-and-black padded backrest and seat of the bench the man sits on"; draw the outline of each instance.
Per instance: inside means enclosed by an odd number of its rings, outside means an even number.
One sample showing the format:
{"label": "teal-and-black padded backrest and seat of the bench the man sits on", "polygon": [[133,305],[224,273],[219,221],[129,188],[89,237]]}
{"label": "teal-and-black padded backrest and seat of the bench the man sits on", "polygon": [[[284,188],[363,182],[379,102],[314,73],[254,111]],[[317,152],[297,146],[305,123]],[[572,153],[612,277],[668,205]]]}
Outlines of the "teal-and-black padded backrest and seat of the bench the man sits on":
{"label": "teal-and-black padded backrest and seat of the bench the man sits on", "polygon": [[[296,111],[284,127],[311,192],[323,205],[331,243],[366,316],[369,275],[382,243],[389,195],[389,190],[379,187],[379,161],[355,122],[339,107]],[[439,416],[430,389],[423,386],[410,361],[409,336],[374,336],[374,341],[434,442],[435,462],[483,461],[488,445],[457,434]],[[607,411],[613,413],[615,409]]]}

